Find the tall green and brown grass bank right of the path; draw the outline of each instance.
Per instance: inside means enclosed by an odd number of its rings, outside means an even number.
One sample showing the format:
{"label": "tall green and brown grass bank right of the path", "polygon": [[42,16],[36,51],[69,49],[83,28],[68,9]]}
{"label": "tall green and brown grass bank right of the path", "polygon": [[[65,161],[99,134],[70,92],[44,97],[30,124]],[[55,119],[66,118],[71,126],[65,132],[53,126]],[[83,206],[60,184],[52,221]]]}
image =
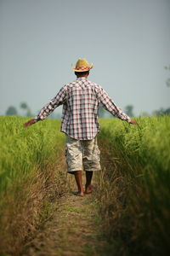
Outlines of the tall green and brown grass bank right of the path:
{"label": "tall green and brown grass bank right of the path", "polygon": [[99,207],[116,255],[168,255],[170,117],[101,120]]}

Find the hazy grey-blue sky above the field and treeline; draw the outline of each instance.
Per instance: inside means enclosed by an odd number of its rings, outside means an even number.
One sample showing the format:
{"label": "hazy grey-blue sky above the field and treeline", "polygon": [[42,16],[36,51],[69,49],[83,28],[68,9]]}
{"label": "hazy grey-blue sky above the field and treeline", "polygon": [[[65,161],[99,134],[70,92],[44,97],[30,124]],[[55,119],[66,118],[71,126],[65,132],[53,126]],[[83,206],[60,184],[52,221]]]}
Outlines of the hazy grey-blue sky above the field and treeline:
{"label": "hazy grey-blue sky above the field and treeline", "polygon": [[37,114],[78,58],[118,107],[169,108],[169,24],[170,0],[0,0],[0,115],[20,102]]}

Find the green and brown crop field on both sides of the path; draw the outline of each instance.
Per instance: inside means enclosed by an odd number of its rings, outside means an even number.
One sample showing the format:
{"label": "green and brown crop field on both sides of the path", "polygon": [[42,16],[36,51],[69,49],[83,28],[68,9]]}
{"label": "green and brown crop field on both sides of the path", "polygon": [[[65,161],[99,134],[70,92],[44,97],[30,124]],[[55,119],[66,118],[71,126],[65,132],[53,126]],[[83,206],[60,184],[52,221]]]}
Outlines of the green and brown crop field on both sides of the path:
{"label": "green and brown crop field on both sides of the path", "polygon": [[[8,255],[22,250],[53,212],[54,200],[68,191],[59,120],[25,129],[26,120],[0,118],[0,253]],[[163,256],[170,250],[170,117],[137,121],[99,120],[102,171],[94,183],[105,255]]]}

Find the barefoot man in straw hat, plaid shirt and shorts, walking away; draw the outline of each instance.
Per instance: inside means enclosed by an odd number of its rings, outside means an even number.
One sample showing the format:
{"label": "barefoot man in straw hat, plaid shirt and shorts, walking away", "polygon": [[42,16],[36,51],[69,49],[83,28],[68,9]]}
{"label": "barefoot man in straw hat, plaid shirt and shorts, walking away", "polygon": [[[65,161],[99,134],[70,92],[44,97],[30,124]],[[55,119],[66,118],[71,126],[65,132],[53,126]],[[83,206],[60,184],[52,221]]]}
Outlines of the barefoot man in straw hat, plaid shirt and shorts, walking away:
{"label": "barefoot man in straw hat, plaid shirt and shorts, walking away", "polygon": [[[93,66],[93,64],[89,66],[86,59],[79,59],[76,67],[72,67],[77,79],[70,84],[65,84],[42,108],[37,117],[24,125],[27,127],[47,118],[55,108],[63,105],[61,131],[66,135],[66,161],[68,172],[75,175],[79,196],[92,192],[93,172],[100,170],[97,144],[99,105],[101,104],[117,118],[129,124],[137,124],[116,106],[99,84],[88,80],[89,70]],[[85,191],[82,189],[82,170],[86,172]]]}

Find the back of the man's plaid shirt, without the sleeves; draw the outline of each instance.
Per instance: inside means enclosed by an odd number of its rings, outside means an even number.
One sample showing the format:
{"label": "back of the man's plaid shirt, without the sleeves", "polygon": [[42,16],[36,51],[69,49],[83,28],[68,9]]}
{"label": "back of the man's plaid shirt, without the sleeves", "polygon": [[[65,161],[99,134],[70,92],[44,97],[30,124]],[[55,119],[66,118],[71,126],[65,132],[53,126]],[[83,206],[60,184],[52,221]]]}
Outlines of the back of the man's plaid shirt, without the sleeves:
{"label": "back of the man's plaid shirt, without the sleeves", "polygon": [[80,140],[89,140],[99,132],[99,85],[82,77],[65,84],[62,131]]}

